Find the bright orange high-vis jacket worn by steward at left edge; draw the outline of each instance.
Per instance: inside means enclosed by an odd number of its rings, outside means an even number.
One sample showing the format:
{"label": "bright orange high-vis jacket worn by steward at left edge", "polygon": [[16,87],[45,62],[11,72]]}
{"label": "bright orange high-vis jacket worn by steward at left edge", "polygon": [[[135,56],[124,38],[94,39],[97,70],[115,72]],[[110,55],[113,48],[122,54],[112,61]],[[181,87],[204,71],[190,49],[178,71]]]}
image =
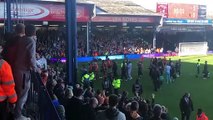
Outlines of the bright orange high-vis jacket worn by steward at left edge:
{"label": "bright orange high-vis jacket worn by steward at left edge", "polygon": [[0,102],[7,99],[10,103],[17,101],[15,82],[10,65],[0,59]]}

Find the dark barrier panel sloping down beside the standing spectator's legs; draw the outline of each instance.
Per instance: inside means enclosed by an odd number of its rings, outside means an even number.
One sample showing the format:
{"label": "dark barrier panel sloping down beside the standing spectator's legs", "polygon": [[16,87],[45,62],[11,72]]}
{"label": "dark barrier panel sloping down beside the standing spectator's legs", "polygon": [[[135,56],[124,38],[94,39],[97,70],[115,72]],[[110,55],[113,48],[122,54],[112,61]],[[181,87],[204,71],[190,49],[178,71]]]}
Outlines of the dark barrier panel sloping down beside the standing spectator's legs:
{"label": "dark barrier panel sloping down beside the standing spectator's legs", "polygon": [[[29,105],[30,104],[30,105]],[[38,120],[61,120],[50,95],[38,73],[32,73],[32,83],[28,96],[28,106],[34,112],[31,117]]]}

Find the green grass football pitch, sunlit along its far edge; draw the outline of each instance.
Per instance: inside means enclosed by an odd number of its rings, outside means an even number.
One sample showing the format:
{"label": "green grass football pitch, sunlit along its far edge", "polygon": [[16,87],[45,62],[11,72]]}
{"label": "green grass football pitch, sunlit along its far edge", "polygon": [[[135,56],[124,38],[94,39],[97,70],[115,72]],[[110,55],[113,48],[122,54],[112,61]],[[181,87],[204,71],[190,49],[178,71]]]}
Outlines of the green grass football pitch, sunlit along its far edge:
{"label": "green grass football pitch, sunlit along its far edge", "polygon": [[[174,83],[166,84],[164,82],[158,92],[154,92],[153,83],[149,77],[148,67],[150,59],[144,59],[144,75],[142,80],[140,80],[144,90],[142,97],[148,99],[151,98],[151,94],[154,93],[155,103],[165,105],[168,108],[171,117],[176,116],[180,119],[179,101],[185,92],[189,92],[191,93],[194,105],[194,112],[192,112],[191,120],[195,120],[198,108],[202,108],[209,117],[209,120],[213,120],[213,56],[171,57],[171,59],[172,61],[178,59],[182,60],[181,76],[177,78]],[[201,75],[199,78],[195,77],[197,59],[201,59],[201,72],[203,70],[204,62],[206,60],[208,61],[210,78],[203,79]],[[132,96],[132,84],[137,78],[137,61],[138,60],[132,60],[133,80],[122,81],[121,85],[122,90],[129,92],[129,97]],[[118,67],[120,67],[121,61],[117,61],[117,63]],[[118,68],[118,72],[120,73],[120,68]],[[101,89],[101,81],[102,80],[95,81],[96,89]]]}

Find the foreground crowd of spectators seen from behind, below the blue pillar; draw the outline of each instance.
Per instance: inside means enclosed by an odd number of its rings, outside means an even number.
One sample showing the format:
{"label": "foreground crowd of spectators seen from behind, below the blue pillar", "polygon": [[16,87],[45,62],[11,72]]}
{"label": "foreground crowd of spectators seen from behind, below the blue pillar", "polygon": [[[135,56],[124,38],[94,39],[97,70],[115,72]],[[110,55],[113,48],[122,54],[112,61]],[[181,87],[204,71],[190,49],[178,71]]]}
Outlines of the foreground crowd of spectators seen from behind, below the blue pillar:
{"label": "foreground crowd of spectators seen from behind, below the blue pillar", "polygon": [[84,89],[79,84],[69,87],[60,80],[48,81],[47,88],[63,120],[171,119],[165,106],[154,103],[154,95],[150,99],[130,98],[127,91],[106,95],[104,90]]}

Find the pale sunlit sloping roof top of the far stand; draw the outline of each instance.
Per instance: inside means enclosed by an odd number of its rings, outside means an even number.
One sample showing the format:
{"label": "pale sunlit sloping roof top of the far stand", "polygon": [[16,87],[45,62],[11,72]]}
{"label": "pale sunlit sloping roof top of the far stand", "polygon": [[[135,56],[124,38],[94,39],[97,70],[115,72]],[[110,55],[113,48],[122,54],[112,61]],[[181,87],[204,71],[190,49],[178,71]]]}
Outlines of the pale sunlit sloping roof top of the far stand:
{"label": "pale sunlit sloping roof top of the far stand", "polygon": [[77,0],[77,2],[93,3],[107,14],[160,16],[160,14],[145,9],[144,7],[128,0]]}

